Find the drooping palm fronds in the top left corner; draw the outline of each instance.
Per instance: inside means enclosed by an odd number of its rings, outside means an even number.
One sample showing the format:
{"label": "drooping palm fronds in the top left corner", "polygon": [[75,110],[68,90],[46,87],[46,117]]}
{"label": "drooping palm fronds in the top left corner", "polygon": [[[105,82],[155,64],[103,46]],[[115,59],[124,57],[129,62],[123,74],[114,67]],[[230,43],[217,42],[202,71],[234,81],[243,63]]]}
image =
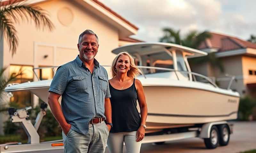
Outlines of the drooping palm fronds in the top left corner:
{"label": "drooping palm fronds in the top left corner", "polygon": [[17,0],[8,2],[0,0],[0,34],[7,38],[12,56],[16,53],[19,44],[14,23],[19,23],[20,19],[29,21],[31,18],[35,22],[36,28],[50,31],[54,28],[45,10],[38,6],[28,5],[26,1],[16,2]]}

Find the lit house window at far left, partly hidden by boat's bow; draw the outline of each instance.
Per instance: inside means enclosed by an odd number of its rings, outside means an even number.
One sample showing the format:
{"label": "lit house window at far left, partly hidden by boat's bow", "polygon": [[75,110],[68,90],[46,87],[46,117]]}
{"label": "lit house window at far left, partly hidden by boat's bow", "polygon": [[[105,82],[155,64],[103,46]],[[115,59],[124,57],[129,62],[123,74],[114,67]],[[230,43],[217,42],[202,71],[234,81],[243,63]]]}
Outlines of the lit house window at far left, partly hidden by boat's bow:
{"label": "lit house window at far left, partly hidden by boat's bow", "polygon": [[[33,67],[22,65],[10,65],[10,74],[15,75],[22,72],[22,75],[16,77],[11,83],[24,83],[33,81]],[[31,106],[32,94],[30,91],[15,91],[13,97],[10,98],[11,103],[15,103],[17,107],[22,108],[25,106]]]}

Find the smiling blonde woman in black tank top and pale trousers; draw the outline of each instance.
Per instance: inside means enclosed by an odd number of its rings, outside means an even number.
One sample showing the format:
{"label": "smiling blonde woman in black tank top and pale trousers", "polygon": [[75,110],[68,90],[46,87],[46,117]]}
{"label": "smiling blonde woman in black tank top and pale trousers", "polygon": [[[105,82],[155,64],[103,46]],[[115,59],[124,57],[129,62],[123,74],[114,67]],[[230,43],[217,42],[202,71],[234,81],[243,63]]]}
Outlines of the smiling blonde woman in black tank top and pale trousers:
{"label": "smiling blonde woman in black tank top and pale trousers", "polygon": [[[119,53],[111,67],[113,78],[109,80],[113,127],[108,135],[111,153],[123,152],[123,144],[128,153],[139,153],[141,140],[145,136],[147,104],[142,84],[135,79],[140,69],[127,52]],[[136,108],[137,100],[140,114]]]}

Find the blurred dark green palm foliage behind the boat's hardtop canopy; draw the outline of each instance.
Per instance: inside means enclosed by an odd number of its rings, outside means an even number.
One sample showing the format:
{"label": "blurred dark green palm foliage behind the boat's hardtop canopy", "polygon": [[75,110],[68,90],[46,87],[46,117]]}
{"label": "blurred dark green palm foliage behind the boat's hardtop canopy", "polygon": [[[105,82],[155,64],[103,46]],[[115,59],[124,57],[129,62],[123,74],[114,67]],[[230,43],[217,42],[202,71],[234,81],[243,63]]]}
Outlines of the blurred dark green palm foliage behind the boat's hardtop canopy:
{"label": "blurred dark green palm foliage behind the boat's hardtop canopy", "polygon": [[[211,38],[211,33],[208,31],[198,32],[196,30],[188,32],[184,37],[181,38],[180,30],[174,30],[172,28],[163,28],[164,36],[160,38],[160,42],[175,43],[182,46],[197,49],[202,42],[207,38]],[[217,66],[221,72],[224,72],[222,62],[215,57],[214,53],[209,53],[207,56],[197,57],[189,59],[192,64],[199,64],[202,62],[210,62],[212,67]]]}

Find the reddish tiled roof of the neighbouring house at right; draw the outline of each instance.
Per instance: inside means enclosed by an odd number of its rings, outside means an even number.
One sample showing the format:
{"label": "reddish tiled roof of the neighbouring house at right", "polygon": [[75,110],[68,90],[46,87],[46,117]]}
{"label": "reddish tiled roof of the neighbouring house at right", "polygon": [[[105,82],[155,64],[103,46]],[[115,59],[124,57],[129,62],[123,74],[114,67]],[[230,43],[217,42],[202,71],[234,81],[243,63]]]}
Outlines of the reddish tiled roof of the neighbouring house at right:
{"label": "reddish tiled roof of the neighbouring house at right", "polygon": [[217,49],[218,52],[225,52],[236,49],[244,49],[244,48],[254,48],[256,49],[256,44],[245,41],[233,36],[228,36],[219,33],[210,32],[212,37],[206,39],[198,49],[208,49],[214,48]]}

